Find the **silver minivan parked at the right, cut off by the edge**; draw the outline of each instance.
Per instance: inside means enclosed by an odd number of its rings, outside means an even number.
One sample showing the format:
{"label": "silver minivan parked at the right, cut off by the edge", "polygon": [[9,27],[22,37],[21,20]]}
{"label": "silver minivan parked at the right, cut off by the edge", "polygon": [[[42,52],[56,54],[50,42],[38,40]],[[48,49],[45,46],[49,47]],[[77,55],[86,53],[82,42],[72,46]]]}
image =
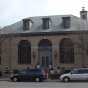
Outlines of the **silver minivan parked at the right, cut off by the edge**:
{"label": "silver minivan parked at the right, cut off by the edge", "polygon": [[60,81],[69,82],[71,80],[88,80],[88,68],[74,69],[73,71],[62,74]]}

